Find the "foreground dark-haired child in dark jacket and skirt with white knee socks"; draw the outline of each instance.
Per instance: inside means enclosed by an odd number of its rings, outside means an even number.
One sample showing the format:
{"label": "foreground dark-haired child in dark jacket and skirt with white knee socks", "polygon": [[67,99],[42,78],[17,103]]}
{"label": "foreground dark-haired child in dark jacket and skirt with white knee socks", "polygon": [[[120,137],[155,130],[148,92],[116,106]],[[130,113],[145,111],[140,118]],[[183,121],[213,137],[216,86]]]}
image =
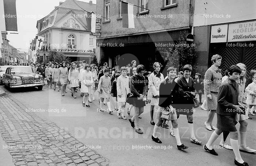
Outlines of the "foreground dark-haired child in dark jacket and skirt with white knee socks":
{"label": "foreground dark-haired child in dark jacket and skirt with white knee socks", "polygon": [[236,129],[236,114],[244,114],[243,105],[238,102],[238,84],[236,80],[241,74],[241,69],[237,65],[229,68],[229,78],[221,85],[217,98],[217,130],[212,132],[204,150],[209,151],[213,155],[218,155],[212,148],[213,142],[222,132],[230,132],[230,143],[236,156],[234,162],[238,166],[248,166],[241,158],[238,145],[238,132]]}

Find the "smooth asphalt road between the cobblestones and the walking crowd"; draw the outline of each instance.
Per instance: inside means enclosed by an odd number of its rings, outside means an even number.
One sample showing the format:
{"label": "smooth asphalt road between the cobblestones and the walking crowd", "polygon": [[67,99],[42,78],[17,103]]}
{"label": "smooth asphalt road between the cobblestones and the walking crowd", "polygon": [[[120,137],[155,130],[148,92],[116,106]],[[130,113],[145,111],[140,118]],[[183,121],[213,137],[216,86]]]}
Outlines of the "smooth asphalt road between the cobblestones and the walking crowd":
{"label": "smooth asphalt road between the cobblestones and the walking crowd", "polygon": [[[110,115],[108,113],[97,112],[99,108],[97,93],[95,101],[90,103],[90,108],[82,106],[82,97],[77,95],[77,99],[71,97],[71,93],[61,97],[61,93],[45,86],[42,91],[36,88],[15,89],[13,91],[2,87],[7,95],[11,95],[27,106],[26,110],[41,109],[45,112],[37,112],[39,117],[46,117],[55,122],[60,128],[68,131],[72,136],[84,143],[85,146],[93,148],[99,154],[108,158],[110,165],[213,165],[213,166],[231,166],[234,165],[233,151],[219,148],[221,137],[215,142],[215,150],[218,156],[213,156],[203,150],[203,146],[190,143],[189,130],[186,116],[180,116],[178,119],[178,128],[180,129],[181,142],[188,146],[187,150],[178,150],[176,140],[169,133],[169,129],[159,129],[159,139],[162,144],[157,144],[151,140],[153,126],[150,124],[150,106],[144,108],[142,119],[139,120],[140,127],[144,132],[139,135],[131,128],[127,120],[118,119],[117,113]],[[113,103],[113,100],[111,101]],[[107,108],[104,106],[105,109]],[[113,108],[113,107],[112,107]],[[127,108],[125,116],[127,118]],[[134,113],[132,109],[131,115]],[[155,119],[156,113],[154,114]],[[207,111],[196,109],[193,115],[195,136],[205,144],[211,136],[211,131],[204,127],[204,121],[207,118]],[[214,124],[216,126],[216,116]],[[256,148],[256,116],[248,120],[248,132],[246,135],[247,145]],[[239,124],[237,125],[237,128]],[[229,138],[228,138],[229,140]],[[144,146],[136,149],[136,146]],[[249,165],[254,165],[255,154],[241,152],[244,161]]]}

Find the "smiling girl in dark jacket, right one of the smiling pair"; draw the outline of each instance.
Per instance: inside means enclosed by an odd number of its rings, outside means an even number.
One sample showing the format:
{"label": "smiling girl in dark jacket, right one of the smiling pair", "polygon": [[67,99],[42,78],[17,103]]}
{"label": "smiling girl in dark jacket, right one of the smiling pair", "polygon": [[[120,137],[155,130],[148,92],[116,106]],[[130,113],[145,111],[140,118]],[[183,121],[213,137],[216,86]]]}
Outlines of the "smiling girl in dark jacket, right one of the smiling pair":
{"label": "smiling girl in dark jacket, right one of the smiling pair", "polygon": [[193,97],[195,97],[195,82],[191,77],[192,66],[185,65],[183,67],[184,75],[178,79],[179,93],[181,95],[182,103],[177,109],[177,118],[180,114],[187,115],[188,127],[190,131],[190,142],[201,145],[202,142],[196,139],[193,126]]}

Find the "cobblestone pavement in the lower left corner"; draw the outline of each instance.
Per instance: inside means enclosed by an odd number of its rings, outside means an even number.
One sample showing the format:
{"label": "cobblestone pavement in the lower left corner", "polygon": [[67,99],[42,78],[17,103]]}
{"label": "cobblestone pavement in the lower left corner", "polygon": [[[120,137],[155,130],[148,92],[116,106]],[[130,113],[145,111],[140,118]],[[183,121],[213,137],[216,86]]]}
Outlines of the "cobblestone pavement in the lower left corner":
{"label": "cobblestone pavement in the lower left corner", "polygon": [[25,112],[25,106],[0,97],[0,133],[16,166],[108,166],[108,159],[84,147],[54,122]]}

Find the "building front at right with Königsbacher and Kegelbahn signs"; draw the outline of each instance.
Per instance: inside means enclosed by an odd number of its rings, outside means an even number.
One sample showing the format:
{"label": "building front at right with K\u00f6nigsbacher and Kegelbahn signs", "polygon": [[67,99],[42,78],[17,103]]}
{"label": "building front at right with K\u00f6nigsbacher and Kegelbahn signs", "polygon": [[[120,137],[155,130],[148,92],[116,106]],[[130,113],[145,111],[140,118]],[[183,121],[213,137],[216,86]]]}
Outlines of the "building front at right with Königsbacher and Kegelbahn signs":
{"label": "building front at right with K\u00f6nigsbacher and Kegelbahn signs", "polygon": [[211,66],[211,56],[222,56],[222,74],[231,65],[244,63],[247,77],[256,69],[256,1],[196,0],[193,34],[199,72]]}

